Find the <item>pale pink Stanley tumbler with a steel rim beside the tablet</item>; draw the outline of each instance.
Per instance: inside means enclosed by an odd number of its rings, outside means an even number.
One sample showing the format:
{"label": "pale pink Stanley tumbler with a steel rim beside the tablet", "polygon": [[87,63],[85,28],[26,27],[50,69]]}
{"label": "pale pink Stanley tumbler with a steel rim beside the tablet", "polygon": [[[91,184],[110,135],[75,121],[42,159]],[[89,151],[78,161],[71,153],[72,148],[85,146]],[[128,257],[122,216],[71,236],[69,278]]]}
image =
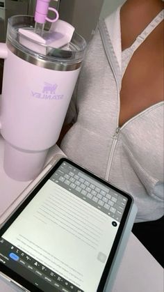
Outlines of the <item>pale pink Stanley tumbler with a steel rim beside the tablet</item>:
{"label": "pale pink Stanley tumbler with a steel rim beside the tablet", "polygon": [[10,17],[6,44],[0,44],[0,58],[4,59],[0,107],[4,169],[16,180],[35,178],[49,148],[56,144],[86,47],[76,32],[60,49],[19,33],[19,29],[34,26],[31,16]]}

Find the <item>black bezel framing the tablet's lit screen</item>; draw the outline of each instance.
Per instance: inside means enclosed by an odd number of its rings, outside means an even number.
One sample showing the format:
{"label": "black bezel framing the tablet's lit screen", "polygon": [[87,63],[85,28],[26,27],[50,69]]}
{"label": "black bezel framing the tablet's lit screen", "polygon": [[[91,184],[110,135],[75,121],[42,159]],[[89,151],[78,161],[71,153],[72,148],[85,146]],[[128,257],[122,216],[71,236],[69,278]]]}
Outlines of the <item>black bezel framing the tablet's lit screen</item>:
{"label": "black bezel framing the tablet's lit screen", "polygon": [[[124,195],[124,197],[126,197],[128,199],[127,203],[126,203],[125,210],[124,210],[124,214],[122,215],[122,219],[121,219],[121,222],[120,222],[119,229],[117,230],[117,235],[115,236],[113,247],[110,250],[110,254],[108,256],[108,260],[106,262],[106,266],[104,268],[104,272],[101,275],[101,279],[100,279],[99,286],[98,286],[98,289],[97,289],[97,292],[102,292],[103,289],[104,289],[104,285],[106,283],[106,279],[108,277],[108,273],[110,271],[111,265],[113,263],[115,252],[116,252],[117,247],[118,247],[118,245],[120,243],[120,238],[122,236],[122,231],[124,230],[124,226],[126,224],[126,220],[129,217],[129,212],[130,212],[131,207],[133,205],[133,198],[131,197],[130,194],[127,194],[126,192],[118,189],[114,185],[110,185],[110,183],[108,183],[108,181],[96,176],[95,174],[90,172],[88,169],[85,169],[85,168],[81,167],[79,164],[76,164],[72,160],[69,160],[66,157],[60,158],[60,160],[49,171],[49,173],[46,176],[44,176],[44,178],[42,178],[40,183],[38,183],[38,185],[35,187],[35,189],[29,194],[29,196],[25,199],[25,201],[21,204],[21,206],[19,206],[19,208],[17,208],[17,210],[15,210],[13,215],[11,215],[11,217],[8,219],[8,221],[1,227],[1,229],[0,229],[0,238],[1,238],[1,236],[3,236],[3,233],[5,233],[5,231],[8,229],[8,227],[16,220],[16,218],[19,216],[19,214],[22,213],[22,210],[24,210],[24,208],[26,208],[26,206],[28,205],[28,203],[30,203],[30,201],[33,199],[33,197],[35,197],[35,194],[37,194],[38,191],[41,189],[41,187],[47,182],[47,180],[49,180],[49,178],[51,178],[51,176],[54,174],[54,171],[56,171],[56,169],[58,169],[58,167],[60,167],[60,164],[62,164],[63,162],[68,162],[69,164],[72,164],[73,167],[76,167],[79,170],[85,172],[85,174],[88,174],[92,178],[95,178],[100,183],[103,183],[104,185],[106,185],[106,186],[110,187],[111,189],[115,190],[116,192],[120,192],[120,194]],[[13,279],[19,285],[23,286],[25,289],[28,289],[31,292],[33,292],[33,291],[34,292],[35,291],[36,292],[42,291],[42,290],[38,289],[38,287],[35,286],[34,284],[31,284],[31,282],[28,282],[27,279],[25,279],[21,275],[18,275],[17,272],[15,272],[15,271],[11,270],[10,268],[4,266],[3,263],[1,263],[1,262],[0,262],[0,271],[3,274],[5,274],[7,277],[9,277],[10,279]],[[58,292],[58,289],[54,288],[54,292]]]}

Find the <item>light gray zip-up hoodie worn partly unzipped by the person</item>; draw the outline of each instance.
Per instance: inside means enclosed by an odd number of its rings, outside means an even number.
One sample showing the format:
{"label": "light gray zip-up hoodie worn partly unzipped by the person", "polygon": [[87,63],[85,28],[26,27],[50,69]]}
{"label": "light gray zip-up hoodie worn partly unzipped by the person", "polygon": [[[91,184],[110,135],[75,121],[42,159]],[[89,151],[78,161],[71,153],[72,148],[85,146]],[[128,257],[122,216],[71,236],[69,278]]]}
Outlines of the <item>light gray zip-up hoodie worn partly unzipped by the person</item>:
{"label": "light gray zip-up hoodie worn partly unzipped by the person", "polygon": [[136,222],[163,215],[163,102],[119,128],[122,49],[120,8],[99,22],[67,112],[77,118],[61,149],[122,190],[138,206]]}

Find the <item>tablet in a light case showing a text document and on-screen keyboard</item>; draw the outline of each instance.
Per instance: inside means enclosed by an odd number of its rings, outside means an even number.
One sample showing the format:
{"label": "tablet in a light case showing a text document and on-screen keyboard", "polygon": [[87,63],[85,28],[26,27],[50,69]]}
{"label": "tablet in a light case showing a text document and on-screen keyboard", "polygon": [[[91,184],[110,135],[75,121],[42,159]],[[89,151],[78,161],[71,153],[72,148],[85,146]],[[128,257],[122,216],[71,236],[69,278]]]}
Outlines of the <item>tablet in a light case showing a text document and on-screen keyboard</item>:
{"label": "tablet in a light case showing a text document and on-screen keyboard", "polygon": [[110,291],[132,197],[61,158],[0,229],[0,275],[26,291]]}

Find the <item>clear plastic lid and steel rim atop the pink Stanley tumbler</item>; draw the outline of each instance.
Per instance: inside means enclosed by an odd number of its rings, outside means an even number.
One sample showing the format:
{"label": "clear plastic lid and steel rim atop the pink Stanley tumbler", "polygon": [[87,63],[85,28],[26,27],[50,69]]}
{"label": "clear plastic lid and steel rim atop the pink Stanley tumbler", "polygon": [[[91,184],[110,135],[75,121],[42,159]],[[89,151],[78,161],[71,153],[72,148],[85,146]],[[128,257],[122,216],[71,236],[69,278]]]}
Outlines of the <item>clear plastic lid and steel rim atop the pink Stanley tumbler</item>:
{"label": "clear plastic lid and steel rim atop the pink Stanley tumbler", "polygon": [[[63,20],[58,20],[56,23],[52,24],[51,29],[44,30],[46,40],[40,42],[22,34],[22,29],[34,31],[34,17],[28,15],[14,15],[8,19],[6,40],[8,49],[10,49],[13,54],[19,56],[19,58],[28,61],[28,63],[33,63],[36,66],[52,70],[75,70],[81,66],[87,44],[85,39],[74,31],[69,43],[66,42],[67,44],[63,45],[63,47],[54,47],[55,45],[52,45],[53,42],[48,39],[49,36],[51,38],[52,36],[54,37],[53,33],[55,33],[55,29],[56,43],[57,36],[60,36],[61,40],[61,32],[59,31],[61,24],[63,25]],[[67,24],[67,28],[68,26],[70,28],[70,24]],[[67,36],[65,36],[65,38],[67,38]]]}

